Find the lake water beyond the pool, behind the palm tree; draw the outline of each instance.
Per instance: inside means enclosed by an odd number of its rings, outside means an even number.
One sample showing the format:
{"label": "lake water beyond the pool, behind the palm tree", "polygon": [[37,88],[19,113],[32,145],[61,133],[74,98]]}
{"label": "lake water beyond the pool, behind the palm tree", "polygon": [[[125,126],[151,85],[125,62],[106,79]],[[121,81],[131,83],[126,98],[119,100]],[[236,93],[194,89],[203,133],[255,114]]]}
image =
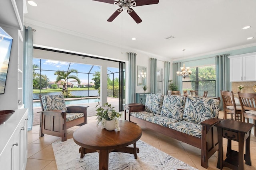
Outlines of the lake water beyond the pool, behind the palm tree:
{"label": "lake water beyond the pool, behind the palm tree", "polygon": [[[41,93],[41,95],[55,95],[60,93],[61,92],[47,92],[47,93]],[[76,90],[70,93],[72,94],[72,96],[83,96],[83,97],[99,96],[98,90]],[[39,94],[40,93],[33,93],[33,100],[39,100]]]}

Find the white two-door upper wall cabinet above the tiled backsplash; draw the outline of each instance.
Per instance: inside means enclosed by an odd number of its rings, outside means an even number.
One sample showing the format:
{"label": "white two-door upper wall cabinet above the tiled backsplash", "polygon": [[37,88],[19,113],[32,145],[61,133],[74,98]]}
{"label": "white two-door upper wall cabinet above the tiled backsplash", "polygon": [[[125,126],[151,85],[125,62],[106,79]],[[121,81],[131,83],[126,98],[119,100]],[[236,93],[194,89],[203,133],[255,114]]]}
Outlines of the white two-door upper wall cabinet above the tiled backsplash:
{"label": "white two-door upper wall cabinet above the tiled backsplash", "polygon": [[230,81],[256,81],[256,53],[234,55],[230,58]]}

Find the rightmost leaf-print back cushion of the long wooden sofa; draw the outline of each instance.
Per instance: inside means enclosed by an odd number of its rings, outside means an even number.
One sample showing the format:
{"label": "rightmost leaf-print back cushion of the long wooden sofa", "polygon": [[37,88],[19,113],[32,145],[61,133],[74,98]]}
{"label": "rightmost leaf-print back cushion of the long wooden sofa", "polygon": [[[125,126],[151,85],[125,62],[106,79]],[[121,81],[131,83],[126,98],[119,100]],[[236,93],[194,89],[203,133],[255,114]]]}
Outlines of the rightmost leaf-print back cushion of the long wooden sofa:
{"label": "rightmost leaf-print back cushion of the long wooden sofa", "polygon": [[219,115],[220,101],[213,98],[187,97],[183,120],[201,123]]}

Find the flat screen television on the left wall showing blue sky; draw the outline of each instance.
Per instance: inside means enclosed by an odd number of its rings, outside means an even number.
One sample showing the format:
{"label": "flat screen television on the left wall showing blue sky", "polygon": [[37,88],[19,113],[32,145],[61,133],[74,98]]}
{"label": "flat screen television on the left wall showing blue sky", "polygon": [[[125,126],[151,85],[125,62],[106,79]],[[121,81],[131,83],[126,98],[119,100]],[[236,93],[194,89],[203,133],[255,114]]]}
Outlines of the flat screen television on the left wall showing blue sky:
{"label": "flat screen television on the left wall showing blue sky", "polygon": [[9,67],[12,37],[0,27],[0,94],[4,94]]}

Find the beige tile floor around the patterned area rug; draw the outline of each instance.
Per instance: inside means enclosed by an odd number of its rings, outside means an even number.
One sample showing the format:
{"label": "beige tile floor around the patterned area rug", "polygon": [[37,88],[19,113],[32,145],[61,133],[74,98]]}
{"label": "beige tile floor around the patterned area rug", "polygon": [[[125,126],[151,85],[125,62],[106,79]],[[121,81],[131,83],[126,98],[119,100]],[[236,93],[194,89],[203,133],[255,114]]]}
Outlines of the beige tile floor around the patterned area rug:
{"label": "beige tile floor around the patterned area rug", "polygon": [[[223,117],[223,112],[220,111],[220,118]],[[96,117],[88,117],[88,122],[95,122]],[[72,138],[72,135],[75,129],[78,127],[72,127],[68,129],[68,139]],[[182,143],[176,139],[172,139],[160,133],[156,133],[145,127],[142,128],[142,137],[141,140],[156,147],[171,156],[182,160],[183,162],[203,170],[200,166],[201,162],[201,150]],[[52,143],[61,141],[59,137],[54,137],[51,135],[45,135],[44,137],[39,137],[39,125],[35,125],[32,128],[32,131],[28,131],[28,161],[26,170],[57,170],[54,153],[52,150]],[[226,140],[224,139],[224,144]],[[238,143],[232,141],[232,149],[238,150]],[[252,166],[245,165],[246,170],[255,170],[256,169],[256,137],[251,135],[250,143],[251,159]],[[226,145],[224,146],[224,152],[226,152]],[[138,154],[140,156],[140,154]],[[216,152],[209,159],[208,170],[215,170],[218,159],[218,152]],[[224,167],[224,170],[229,168]]]}

